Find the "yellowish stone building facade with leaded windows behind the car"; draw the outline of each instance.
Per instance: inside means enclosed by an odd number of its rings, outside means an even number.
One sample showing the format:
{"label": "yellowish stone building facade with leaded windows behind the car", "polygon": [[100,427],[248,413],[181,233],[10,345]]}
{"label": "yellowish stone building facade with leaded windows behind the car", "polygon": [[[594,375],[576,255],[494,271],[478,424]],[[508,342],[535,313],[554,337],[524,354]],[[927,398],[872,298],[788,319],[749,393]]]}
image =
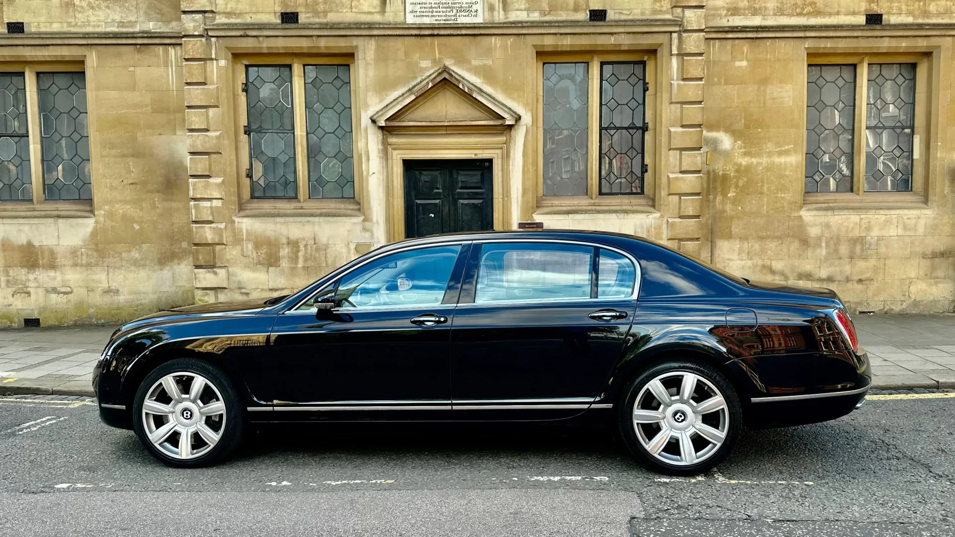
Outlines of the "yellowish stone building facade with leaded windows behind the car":
{"label": "yellowish stone building facade with leaded windows behind the car", "polygon": [[429,4],[3,0],[0,325],[520,222],[955,307],[951,2]]}

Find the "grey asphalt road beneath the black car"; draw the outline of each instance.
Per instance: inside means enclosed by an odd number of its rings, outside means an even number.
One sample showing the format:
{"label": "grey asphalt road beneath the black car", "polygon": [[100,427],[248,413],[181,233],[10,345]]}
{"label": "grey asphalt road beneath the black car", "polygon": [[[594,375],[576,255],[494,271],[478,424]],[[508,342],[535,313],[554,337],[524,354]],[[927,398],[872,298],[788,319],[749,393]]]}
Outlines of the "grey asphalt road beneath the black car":
{"label": "grey asphalt road beneath the black car", "polygon": [[607,431],[529,426],[265,430],[180,470],[91,402],[23,398],[0,397],[0,535],[955,535],[955,398],[745,431],[680,480]]}

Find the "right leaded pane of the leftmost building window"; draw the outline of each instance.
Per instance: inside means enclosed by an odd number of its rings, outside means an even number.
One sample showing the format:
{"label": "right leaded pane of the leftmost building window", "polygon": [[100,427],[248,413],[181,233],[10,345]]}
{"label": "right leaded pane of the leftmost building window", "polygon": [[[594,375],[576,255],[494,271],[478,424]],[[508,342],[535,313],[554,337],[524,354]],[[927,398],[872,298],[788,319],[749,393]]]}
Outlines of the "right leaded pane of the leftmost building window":
{"label": "right leaded pane of the leftmost building window", "polygon": [[47,200],[92,200],[86,75],[37,73],[43,194]]}

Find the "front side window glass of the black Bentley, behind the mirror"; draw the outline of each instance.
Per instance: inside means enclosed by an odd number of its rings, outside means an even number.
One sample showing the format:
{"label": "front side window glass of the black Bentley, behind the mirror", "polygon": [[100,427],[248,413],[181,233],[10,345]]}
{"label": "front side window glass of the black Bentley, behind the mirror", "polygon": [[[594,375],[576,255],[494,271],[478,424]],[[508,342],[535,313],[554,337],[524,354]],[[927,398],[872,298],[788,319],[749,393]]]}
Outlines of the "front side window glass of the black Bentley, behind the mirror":
{"label": "front side window glass of the black Bentley, behind the mirror", "polygon": [[371,262],[344,276],[335,299],[342,308],[440,304],[460,249],[422,248]]}

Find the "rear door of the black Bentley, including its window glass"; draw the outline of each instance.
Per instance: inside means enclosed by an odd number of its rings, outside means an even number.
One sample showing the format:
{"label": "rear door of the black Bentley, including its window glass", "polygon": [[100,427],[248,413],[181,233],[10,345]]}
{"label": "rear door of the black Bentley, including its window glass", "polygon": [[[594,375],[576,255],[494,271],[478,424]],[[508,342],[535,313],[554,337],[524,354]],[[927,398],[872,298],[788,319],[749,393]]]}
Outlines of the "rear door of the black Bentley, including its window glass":
{"label": "rear door of the black Bentley, including its window glass", "polygon": [[455,419],[560,419],[600,395],[636,309],[636,265],[578,243],[471,248],[451,331]]}

